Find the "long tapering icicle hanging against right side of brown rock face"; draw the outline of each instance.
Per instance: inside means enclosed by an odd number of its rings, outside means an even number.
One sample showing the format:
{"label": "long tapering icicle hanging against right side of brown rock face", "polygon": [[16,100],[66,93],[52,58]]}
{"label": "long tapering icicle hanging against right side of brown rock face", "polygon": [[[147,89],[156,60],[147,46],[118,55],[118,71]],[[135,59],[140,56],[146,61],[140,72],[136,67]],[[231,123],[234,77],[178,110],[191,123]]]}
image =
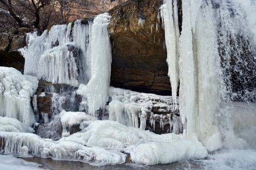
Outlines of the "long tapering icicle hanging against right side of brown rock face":
{"label": "long tapering icicle hanging against right side of brown rock face", "polygon": [[167,48],[168,76],[170,77],[172,97],[177,108],[177,90],[179,84],[179,27],[177,0],[164,1],[161,6],[161,18],[165,28]]}

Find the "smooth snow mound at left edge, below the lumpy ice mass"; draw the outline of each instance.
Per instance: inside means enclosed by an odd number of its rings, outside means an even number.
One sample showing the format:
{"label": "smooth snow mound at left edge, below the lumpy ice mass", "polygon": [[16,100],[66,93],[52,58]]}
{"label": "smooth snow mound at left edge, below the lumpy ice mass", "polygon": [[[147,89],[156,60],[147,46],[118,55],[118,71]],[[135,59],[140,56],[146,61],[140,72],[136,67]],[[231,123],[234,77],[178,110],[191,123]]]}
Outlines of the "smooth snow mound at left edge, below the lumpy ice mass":
{"label": "smooth snow mound at left edge, below the lumpy ice mass", "polygon": [[33,128],[26,126],[24,123],[18,121],[17,119],[2,116],[0,116],[0,131],[28,133],[34,132]]}

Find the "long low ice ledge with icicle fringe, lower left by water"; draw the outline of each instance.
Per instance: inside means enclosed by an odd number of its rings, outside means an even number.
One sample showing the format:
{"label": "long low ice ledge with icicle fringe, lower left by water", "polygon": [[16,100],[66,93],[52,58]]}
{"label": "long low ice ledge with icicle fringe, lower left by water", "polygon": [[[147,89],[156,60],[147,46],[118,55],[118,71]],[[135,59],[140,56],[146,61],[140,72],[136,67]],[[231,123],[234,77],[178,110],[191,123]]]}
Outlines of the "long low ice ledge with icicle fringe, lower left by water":
{"label": "long low ice ledge with icicle fringe, lower left by water", "polygon": [[5,139],[4,154],[33,154],[53,159],[79,160],[100,165],[122,164],[126,155],[119,151],[106,150],[99,147],[86,147],[76,141],[65,138],[59,141],[42,139],[35,134],[0,132]]}

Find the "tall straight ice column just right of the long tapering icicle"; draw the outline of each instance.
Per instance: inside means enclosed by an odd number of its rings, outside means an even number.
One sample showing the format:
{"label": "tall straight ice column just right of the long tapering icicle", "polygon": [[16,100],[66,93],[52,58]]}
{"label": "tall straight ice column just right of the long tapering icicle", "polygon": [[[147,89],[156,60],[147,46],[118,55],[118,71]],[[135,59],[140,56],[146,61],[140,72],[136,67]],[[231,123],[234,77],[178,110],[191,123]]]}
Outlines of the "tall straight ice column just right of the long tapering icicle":
{"label": "tall straight ice column just right of the long tapering icicle", "polygon": [[196,133],[195,112],[196,106],[196,78],[195,78],[195,59],[193,54],[192,25],[190,2],[182,1],[182,32],[180,36],[180,114],[182,123],[187,118],[187,136]]}

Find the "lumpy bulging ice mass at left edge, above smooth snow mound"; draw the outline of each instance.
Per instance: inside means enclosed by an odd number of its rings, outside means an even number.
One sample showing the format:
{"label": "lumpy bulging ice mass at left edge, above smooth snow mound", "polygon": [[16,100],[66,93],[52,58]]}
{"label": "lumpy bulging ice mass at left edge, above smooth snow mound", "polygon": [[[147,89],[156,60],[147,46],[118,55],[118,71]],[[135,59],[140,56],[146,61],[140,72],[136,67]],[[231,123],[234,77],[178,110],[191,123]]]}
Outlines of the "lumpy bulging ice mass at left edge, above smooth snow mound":
{"label": "lumpy bulging ice mass at left edge, above smooth snow mound", "polygon": [[30,97],[37,87],[36,77],[22,75],[14,68],[0,67],[0,116],[13,117],[31,126],[35,120]]}

